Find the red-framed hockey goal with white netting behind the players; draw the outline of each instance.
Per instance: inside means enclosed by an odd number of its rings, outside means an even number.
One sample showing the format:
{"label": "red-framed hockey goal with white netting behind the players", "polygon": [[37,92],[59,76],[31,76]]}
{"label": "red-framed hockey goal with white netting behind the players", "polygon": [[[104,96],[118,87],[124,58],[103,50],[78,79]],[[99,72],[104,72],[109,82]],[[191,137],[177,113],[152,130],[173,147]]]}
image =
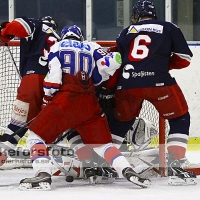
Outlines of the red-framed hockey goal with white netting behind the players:
{"label": "red-framed hockey goal with white netting behind the players", "polygon": [[[115,45],[113,41],[98,41],[97,43],[104,48]],[[19,41],[12,41],[8,43],[8,47],[0,45],[0,126],[3,127],[6,127],[10,122],[13,102],[15,101],[17,88],[20,84],[19,76],[9,55],[9,50],[17,67],[19,67],[19,44]],[[159,149],[159,173],[165,176],[167,174],[165,144],[169,130],[168,124],[159,116],[155,107],[148,101],[144,101],[139,117],[154,123],[159,133],[152,139],[149,147]],[[192,165],[191,171],[200,174],[199,167],[195,165]]]}

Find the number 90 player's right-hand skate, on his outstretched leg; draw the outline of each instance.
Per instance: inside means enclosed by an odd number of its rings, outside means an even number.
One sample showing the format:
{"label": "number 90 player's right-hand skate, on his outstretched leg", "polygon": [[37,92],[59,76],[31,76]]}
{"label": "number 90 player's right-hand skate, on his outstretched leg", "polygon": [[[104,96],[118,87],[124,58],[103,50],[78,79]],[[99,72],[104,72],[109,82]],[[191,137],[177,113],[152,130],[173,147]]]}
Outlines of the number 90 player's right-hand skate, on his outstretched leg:
{"label": "number 90 player's right-hand skate, on his outstretched leg", "polygon": [[122,174],[128,181],[142,188],[147,188],[151,185],[151,181],[149,179],[142,178],[130,167],[123,169]]}

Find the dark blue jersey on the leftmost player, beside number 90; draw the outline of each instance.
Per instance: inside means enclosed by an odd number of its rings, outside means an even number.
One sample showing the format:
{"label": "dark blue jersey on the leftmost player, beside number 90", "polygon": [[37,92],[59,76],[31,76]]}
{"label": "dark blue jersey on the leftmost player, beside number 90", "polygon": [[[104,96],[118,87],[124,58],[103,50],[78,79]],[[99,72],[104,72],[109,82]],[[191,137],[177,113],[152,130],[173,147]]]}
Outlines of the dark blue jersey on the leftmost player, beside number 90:
{"label": "dark blue jersey on the leftmost player, beside number 90", "polygon": [[21,17],[15,19],[26,29],[28,37],[20,39],[20,74],[44,74],[48,72],[48,52],[60,39],[46,24],[36,19]]}

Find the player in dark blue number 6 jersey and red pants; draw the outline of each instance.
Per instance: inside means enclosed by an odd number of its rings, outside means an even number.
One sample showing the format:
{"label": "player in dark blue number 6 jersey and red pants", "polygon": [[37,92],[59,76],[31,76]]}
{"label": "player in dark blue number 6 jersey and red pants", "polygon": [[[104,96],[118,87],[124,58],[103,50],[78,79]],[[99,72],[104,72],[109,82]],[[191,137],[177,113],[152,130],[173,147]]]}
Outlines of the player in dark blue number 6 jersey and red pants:
{"label": "player in dark blue number 6 jersey and red pants", "polygon": [[139,0],[135,4],[132,22],[116,39],[122,68],[115,93],[111,132],[118,136],[126,132],[121,129],[130,128],[143,100],[148,100],[169,122],[169,184],[194,185],[196,175],[182,168],[190,127],[188,105],[175,78],[169,74],[169,70],[188,67],[192,52],[176,25],[157,20],[151,1]]}

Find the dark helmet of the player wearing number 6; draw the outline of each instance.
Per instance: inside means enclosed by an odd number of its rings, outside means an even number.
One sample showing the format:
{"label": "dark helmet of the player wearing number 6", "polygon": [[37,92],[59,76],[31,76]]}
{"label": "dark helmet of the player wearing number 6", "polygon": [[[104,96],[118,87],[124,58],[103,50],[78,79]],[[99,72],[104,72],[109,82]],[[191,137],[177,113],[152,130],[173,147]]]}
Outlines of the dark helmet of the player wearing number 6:
{"label": "dark helmet of the player wearing number 6", "polygon": [[154,3],[148,0],[139,0],[132,8],[131,16],[133,23],[137,22],[140,17],[151,17],[157,19]]}

